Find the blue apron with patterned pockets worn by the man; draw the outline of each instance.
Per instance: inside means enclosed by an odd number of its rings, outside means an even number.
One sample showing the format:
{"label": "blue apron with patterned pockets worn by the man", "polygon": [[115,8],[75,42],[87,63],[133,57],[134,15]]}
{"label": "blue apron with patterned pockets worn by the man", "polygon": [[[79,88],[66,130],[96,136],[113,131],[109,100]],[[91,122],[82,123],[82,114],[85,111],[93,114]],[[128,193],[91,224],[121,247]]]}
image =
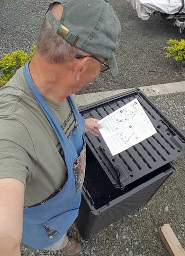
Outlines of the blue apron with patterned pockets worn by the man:
{"label": "blue apron with patterned pockets worn by the man", "polygon": [[[32,248],[44,249],[55,244],[66,233],[78,216],[85,171],[83,169],[80,175],[75,173],[74,163],[80,158],[80,154],[85,149],[85,121],[78,112],[71,97],[68,96],[78,124],[68,139],[55,115],[34,85],[29,72],[29,62],[26,62],[24,66],[24,75],[31,92],[56,132],[64,151],[68,169],[68,180],[58,194],[44,204],[24,209],[22,241]],[[45,227],[57,231],[52,239],[49,239]]]}

